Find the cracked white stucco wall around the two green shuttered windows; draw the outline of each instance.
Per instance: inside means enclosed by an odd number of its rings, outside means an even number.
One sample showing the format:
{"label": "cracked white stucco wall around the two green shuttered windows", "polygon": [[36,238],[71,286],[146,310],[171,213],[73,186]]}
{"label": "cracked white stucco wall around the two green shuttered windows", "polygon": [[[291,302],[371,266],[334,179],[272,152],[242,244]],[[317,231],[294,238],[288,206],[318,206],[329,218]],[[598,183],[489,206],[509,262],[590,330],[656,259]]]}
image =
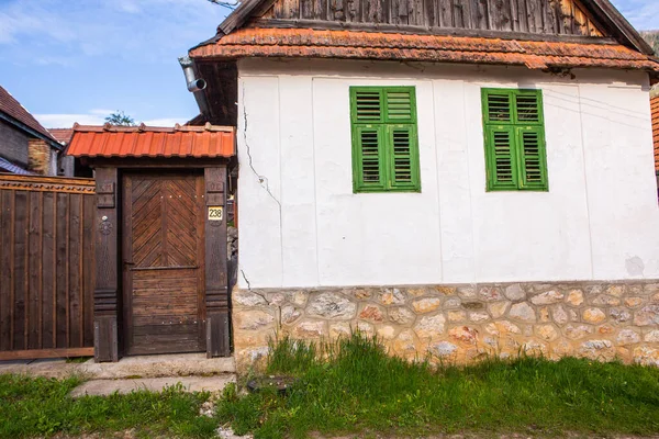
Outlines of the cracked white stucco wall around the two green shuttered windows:
{"label": "cracked white stucco wall around the two green shuttered windows", "polygon": [[[640,72],[239,65],[238,286],[659,278]],[[421,193],[353,193],[350,86],[415,86]],[[485,192],[482,87],[540,88],[548,192]]]}

